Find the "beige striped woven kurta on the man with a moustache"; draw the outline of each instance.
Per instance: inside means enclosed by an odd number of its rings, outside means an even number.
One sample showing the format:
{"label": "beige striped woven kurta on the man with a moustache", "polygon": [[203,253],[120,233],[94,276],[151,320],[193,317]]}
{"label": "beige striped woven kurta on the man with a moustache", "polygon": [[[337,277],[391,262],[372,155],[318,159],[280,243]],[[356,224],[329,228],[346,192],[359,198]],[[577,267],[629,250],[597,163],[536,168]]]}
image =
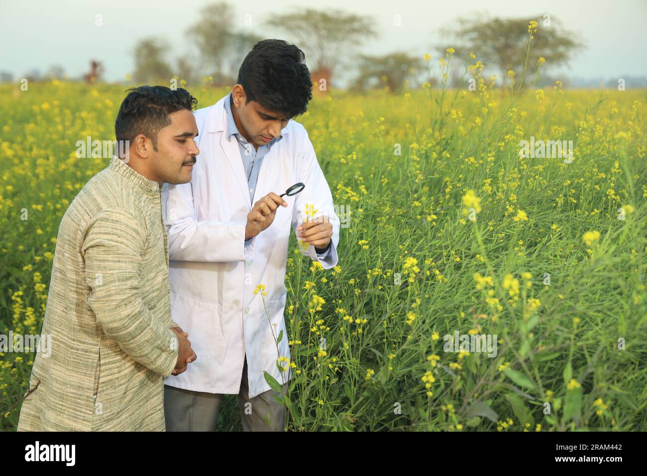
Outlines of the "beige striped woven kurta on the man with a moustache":
{"label": "beige striped woven kurta on the man with a moustache", "polygon": [[[177,361],[161,187],[113,157],[63,215],[18,431],[164,431]],[[96,402],[94,402],[96,395]]]}

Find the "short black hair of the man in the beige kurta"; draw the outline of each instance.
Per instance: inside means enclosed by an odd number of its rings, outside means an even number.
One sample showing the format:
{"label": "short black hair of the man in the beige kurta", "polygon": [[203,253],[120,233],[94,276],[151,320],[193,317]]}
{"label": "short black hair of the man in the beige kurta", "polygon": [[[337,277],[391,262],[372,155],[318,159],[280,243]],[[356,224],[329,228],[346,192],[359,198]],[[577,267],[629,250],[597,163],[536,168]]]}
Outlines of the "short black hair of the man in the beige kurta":
{"label": "short black hair of the man in the beige kurta", "polygon": [[122,102],[115,121],[117,141],[135,141],[144,134],[153,141],[157,152],[157,134],[160,129],[171,124],[169,115],[182,109],[190,111],[197,106],[198,100],[181,87],[170,89],[166,86],[131,87]]}

